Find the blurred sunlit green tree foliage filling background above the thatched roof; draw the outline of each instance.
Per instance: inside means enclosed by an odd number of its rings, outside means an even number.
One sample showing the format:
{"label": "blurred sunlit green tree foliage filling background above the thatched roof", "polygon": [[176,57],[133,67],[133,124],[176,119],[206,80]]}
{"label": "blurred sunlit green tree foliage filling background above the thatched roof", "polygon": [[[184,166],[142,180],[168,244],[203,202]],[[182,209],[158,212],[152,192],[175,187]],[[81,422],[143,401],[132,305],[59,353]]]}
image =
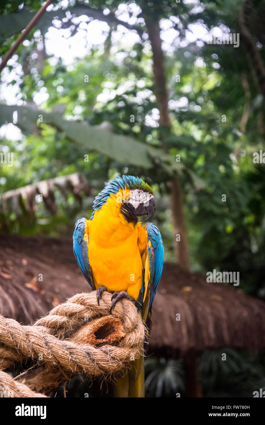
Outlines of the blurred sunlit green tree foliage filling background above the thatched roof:
{"label": "blurred sunlit green tree foliage filling background above the thatched roof", "polygon": [[[40,3],[25,2],[18,10],[16,2],[5,2],[0,22],[4,24],[2,36],[9,38],[2,48],[8,48],[14,40],[11,34],[20,31],[15,26],[25,25],[23,14],[37,10]],[[89,16],[93,7],[97,13],[92,14],[93,19],[104,20],[107,15],[101,12],[108,8],[112,17],[120,4],[118,0],[98,0],[93,5],[79,2],[69,5],[69,11]],[[23,71],[18,83],[21,99],[30,105],[43,89],[48,99],[41,105],[43,122],[36,126],[36,109],[24,114],[24,121],[19,113],[17,125],[25,136],[18,142],[3,140],[2,145],[14,151],[16,167],[1,165],[0,192],[76,171],[96,190],[117,173],[149,178],[156,188],[155,220],[162,229],[166,259],[173,261],[166,183],[173,170],[181,172],[192,268],[198,272],[214,268],[240,271],[242,288],[264,297],[264,173],[262,164],[252,161],[252,154],[263,147],[259,90],[243,42],[239,48],[186,42],[186,31],[191,31],[194,23],[240,32],[236,12],[241,3],[200,3],[197,10],[192,4],[173,0],[137,4],[142,9],[139,18],[149,14],[154,20],[170,20],[172,29],[178,31],[175,40],[163,45],[172,130],[159,128],[153,118],[157,104],[147,37],[139,37],[132,48],[124,47],[113,37],[117,22],[109,19],[104,45],[92,46],[86,57],[70,67],[61,58],[55,60],[47,57],[45,50],[38,50],[37,34],[45,36],[54,16],[58,20],[66,16],[58,4],[29,34],[30,44],[17,51]],[[251,33],[260,42],[262,10],[262,2],[255,3],[255,25],[250,22]],[[11,14],[19,14],[21,20]],[[128,14],[133,17],[132,9]],[[67,14],[61,25],[70,28],[73,37],[79,28],[71,20]],[[143,21],[135,25],[145,31]],[[264,62],[263,48],[259,47],[259,54]],[[85,75],[89,82],[84,81]],[[180,81],[176,81],[177,75]],[[9,84],[17,82],[14,79]],[[105,100],[102,94],[106,94]],[[30,111],[27,105],[24,109]],[[12,111],[13,107],[1,105],[2,123],[12,122]],[[89,162],[84,161],[86,154]],[[175,161],[178,155],[180,162]]]}

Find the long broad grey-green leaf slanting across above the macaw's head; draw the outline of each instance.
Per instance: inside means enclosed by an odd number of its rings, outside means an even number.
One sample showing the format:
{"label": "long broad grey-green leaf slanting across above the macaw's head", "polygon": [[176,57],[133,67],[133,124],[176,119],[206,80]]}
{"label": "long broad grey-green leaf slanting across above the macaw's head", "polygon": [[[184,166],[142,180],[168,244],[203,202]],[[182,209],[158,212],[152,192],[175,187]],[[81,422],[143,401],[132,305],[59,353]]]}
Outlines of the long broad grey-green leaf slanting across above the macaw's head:
{"label": "long broad grey-green leaf slanting across above the macaw's head", "polygon": [[[54,126],[63,131],[65,137],[73,142],[82,144],[88,150],[96,150],[122,164],[133,164],[138,167],[151,168],[155,163],[164,167],[169,174],[183,169],[183,165],[175,161],[172,156],[161,149],[138,142],[129,136],[113,133],[110,126],[104,129],[101,126],[91,126],[87,122],[75,122],[62,119],[57,112],[47,113],[27,106],[0,105],[0,124],[13,122],[13,113],[17,111],[17,126],[24,134],[31,134],[38,119],[43,123]],[[110,128],[109,128],[110,127]],[[130,150],[128,147],[130,146]]]}

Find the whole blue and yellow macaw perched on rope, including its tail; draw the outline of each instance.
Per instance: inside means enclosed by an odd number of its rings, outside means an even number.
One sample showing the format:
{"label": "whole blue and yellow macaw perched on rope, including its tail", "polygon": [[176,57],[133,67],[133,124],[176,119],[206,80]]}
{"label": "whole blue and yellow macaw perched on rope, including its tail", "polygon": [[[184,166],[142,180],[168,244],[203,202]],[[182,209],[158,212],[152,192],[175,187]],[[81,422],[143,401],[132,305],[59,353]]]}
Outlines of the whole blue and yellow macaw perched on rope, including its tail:
{"label": "whole blue and yellow macaw perched on rope, including its tail", "polygon": [[[76,221],[73,251],[79,268],[99,300],[113,292],[111,310],[121,298],[133,299],[147,329],[163,269],[161,234],[149,220],[155,212],[151,187],[141,178],[111,180],[96,196],[90,220]],[[144,357],[116,380],[114,397],[144,397]]]}

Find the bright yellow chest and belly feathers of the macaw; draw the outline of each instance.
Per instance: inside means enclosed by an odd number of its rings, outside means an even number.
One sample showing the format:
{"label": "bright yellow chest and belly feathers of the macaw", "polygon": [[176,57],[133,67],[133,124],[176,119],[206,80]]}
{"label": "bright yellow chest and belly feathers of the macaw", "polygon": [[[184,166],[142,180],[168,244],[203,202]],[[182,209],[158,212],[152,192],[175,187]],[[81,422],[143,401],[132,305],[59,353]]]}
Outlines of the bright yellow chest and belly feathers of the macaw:
{"label": "bright yellow chest and belly feathers of the macaw", "polygon": [[111,196],[87,222],[88,259],[96,288],[126,291],[137,299],[146,259],[146,231],[140,223],[128,223],[120,206]]}

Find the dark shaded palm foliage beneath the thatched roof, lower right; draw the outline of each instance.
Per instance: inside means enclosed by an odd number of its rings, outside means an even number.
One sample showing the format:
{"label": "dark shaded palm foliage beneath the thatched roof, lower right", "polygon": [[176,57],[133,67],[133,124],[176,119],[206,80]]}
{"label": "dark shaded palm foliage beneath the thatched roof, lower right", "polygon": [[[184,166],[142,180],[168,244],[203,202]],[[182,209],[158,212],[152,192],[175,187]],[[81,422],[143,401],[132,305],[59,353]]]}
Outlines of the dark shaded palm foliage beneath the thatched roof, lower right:
{"label": "dark shaded palm foliage beneath the thatched roof, lower right", "polygon": [[[224,353],[226,360],[222,360]],[[253,397],[253,391],[264,386],[262,355],[234,348],[205,350],[197,364],[204,397]],[[179,360],[147,357],[145,376],[146,397],[186,396],[185,373]]]}

